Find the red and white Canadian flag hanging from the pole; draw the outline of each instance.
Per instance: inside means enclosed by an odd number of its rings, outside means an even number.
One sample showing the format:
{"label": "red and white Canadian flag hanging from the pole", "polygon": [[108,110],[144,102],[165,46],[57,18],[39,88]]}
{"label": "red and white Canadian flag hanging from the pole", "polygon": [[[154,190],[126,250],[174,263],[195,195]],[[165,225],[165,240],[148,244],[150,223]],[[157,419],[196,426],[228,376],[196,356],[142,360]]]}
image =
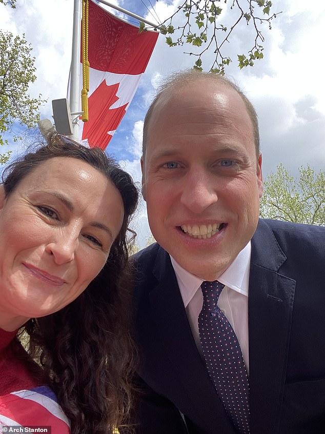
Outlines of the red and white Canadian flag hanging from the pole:
{"label": "red and white Canadian flag hanging from the pole", "polygon": [[137,27],[93,1],[89,2],[88,28],[89,121],[79,122],[79,139],[106,149],[132,101],[159,33],[139,33]]}

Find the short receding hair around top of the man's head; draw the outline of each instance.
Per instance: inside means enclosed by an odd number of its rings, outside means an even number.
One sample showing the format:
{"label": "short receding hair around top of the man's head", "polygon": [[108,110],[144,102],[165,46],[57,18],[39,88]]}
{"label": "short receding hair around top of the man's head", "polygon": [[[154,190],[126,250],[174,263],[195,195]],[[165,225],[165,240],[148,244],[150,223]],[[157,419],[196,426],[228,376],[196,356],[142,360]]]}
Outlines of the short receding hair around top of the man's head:
{"label": "short receding hair around top of the man's head", "polygon": [[209,82],[216,85],[224,85],[225,87],[234,89],[234,91],[240,96],[241,100],[245,104],[246,111],[249,115],[249,118],[252,122],[253,135],[254,135],[254,144],[256,151],[256,158],[259,156],[259,130],[258,130],[258,119],[254,106],[248,100],[247,96],[241,91],[239,86],[229,80],[229,78],[222,76],[220,74],[213,74],[211,72],[199,72],[193,69],[185,72],[180,72],[174,75],[167,77],[167,79],[162,82],[162,84],[158,87],[156,96],[154,97],[147,114],[145,116],[144,121],[144,130],[143,130],[143,159],[145,159],[146,147],[148,141],[148,132],[150,128],[150,123],[152,119],[152,115],[154,113],[155,107],[158,103],[165,97],[171,97],[172,91],[176,92],[184,89],[190,83],[199,83],[199,82]]}

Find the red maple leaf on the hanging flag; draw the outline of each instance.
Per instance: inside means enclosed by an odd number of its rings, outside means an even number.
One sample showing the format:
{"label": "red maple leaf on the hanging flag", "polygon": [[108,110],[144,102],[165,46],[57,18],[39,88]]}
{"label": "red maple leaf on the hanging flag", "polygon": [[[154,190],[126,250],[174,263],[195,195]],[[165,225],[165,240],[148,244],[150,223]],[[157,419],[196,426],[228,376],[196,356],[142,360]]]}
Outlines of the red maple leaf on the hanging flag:
{"label": "red maple leaf on the hanging flag", "polygon": [[128,105],[111,109],[118,100],[116,92],[119,83],[107,86],[106,81],[100,83],[97,89],[88,98],[89,121],[84,123],[82,140],[88,139],[89,146],[106,149],[112,135],[126,112]]}

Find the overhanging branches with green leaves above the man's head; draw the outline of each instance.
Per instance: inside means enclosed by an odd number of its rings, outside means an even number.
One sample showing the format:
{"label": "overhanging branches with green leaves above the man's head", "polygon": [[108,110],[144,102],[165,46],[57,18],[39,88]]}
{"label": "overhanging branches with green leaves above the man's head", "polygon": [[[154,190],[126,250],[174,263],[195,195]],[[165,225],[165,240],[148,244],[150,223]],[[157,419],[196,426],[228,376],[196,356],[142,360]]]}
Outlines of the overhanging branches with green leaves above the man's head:
{"label": "overhanging branches with green leaves above the man's head", "polygon": [[[210,71],[225,73],[225,68],[232,62],[227,55],[226,43],[234,33],[234,29],[240,22],[253,28],[254,37],[252,46],[246,53],[238,54],[238,66],[243,68],[253,66],[255,60],[263,58],[264,36],[260,30],[262,24],[268,24],[271,29],[271,21],[280,13],[271,13],[272,2],[270,0],[232,0],[232,24],[222,23],[222,10],[227,0],[185,0],[177,11],[167,18],[158,28],[160,33],[167,35],[166,43],[170,47],[189,44],[191,51],[186,54],[197,57],[194,68],[202,70],[202,55],[206,51],[214,51],[215,58]],[[221,7],[222,6],[222,7]],[[173,25],[176,16],[184,15],[183,24]],[[145,24],[140,23],[140,31],[145,30]],[[193,52],[192,49],[196,52]]]}

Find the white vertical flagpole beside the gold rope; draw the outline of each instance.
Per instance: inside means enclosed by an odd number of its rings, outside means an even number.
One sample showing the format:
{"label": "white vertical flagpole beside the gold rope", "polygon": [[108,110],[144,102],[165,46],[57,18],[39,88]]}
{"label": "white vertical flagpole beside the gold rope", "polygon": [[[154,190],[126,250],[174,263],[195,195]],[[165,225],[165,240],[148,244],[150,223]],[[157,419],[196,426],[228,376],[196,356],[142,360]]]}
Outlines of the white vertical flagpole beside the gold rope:
{"label": "white vertical flagpole beside the gold rope", "polygon": [[[80,112],[80,40],[81,40],[82,0],[74,0],[73,6],[73,33],[71,55],[71,78],[70,78],[70,111]],[[73,135],[71,139],[79,139],[78,116],[72,120]]]}

